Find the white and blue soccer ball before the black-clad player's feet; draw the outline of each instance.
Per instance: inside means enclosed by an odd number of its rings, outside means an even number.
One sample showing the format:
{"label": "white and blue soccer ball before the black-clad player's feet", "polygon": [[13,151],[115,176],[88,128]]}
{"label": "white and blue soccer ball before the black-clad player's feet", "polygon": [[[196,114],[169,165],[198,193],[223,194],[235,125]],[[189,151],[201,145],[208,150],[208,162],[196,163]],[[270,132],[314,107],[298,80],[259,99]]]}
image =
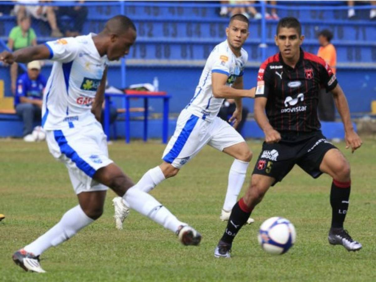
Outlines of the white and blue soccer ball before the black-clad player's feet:
{"label": "white and blue soccer ball before the black-clad player's feet", "polygon": [[294,225],[283,217],[271,217],[260,226],[258,241],[262,249],[273,255],[281,255],[295,243]]}

